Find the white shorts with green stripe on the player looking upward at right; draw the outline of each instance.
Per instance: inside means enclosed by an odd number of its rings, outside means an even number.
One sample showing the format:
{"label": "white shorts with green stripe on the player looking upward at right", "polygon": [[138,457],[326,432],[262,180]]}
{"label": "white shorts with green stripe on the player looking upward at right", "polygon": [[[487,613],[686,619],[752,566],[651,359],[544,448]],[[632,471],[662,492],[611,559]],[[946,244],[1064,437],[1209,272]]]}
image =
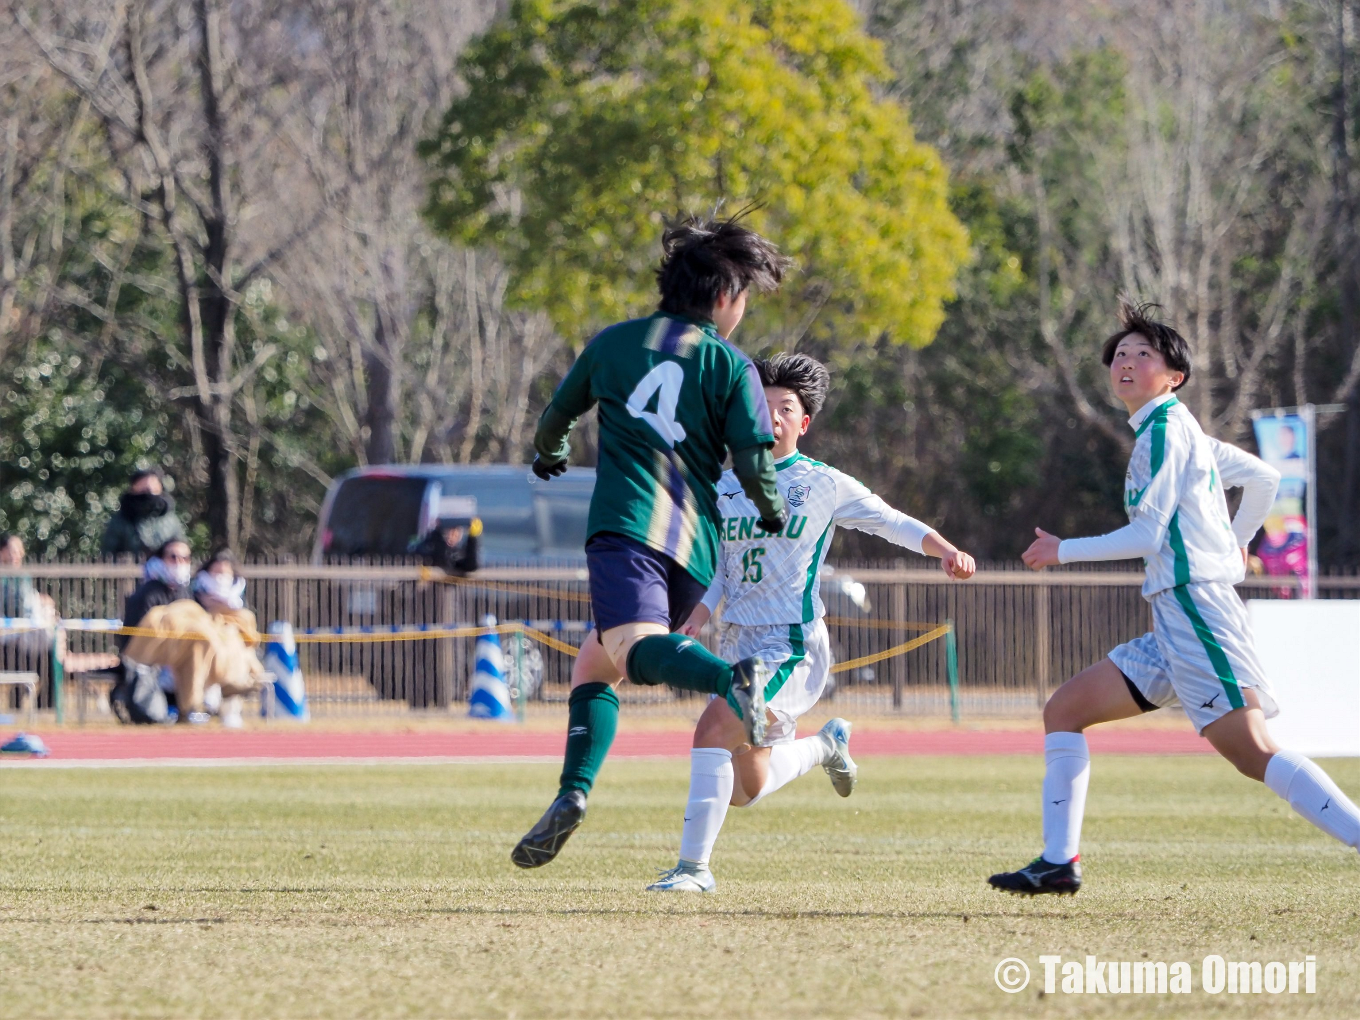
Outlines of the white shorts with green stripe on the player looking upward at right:
{"label": "white shorts with green stripe on the player looking upward at right", "polygon": [[1243,688],[1255,690],[1268,719],[1280,714],[1232,585],[1182,585],[1149,602],[1152,634],[1110,653],[1148,702],[1157,709],[1179,702],[1200,732],[1240,709]]}

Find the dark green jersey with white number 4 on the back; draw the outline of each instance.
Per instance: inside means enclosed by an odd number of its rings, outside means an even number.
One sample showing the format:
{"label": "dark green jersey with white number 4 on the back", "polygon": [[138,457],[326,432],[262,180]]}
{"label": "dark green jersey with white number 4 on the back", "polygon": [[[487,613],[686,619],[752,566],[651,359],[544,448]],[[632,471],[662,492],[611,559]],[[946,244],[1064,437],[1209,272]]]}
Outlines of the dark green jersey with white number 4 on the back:
{"label": "dark green jersey with white number 4 on the back", "polygon": [[[670,556],[707,585],[718,563],[717,483],[728,450],[774,442],[755,366],[711,322],[656,313],[609,326],[544,411],[534,447],[567,456],[570,424],[600,405],[589,533]],[[555,412],[555,413],[554,413]]]}

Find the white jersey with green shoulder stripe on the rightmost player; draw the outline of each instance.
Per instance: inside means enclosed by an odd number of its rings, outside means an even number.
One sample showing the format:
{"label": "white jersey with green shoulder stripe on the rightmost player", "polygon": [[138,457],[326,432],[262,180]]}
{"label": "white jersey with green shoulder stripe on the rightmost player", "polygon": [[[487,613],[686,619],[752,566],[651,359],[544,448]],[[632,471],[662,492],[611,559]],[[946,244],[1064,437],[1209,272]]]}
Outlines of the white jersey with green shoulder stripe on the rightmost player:
{"label": "white jersey with green shoulder stripe on the rightmost player", "polygon": [[[1123,480],[1123,507],[1132,522],[1148,520],[1160,537],[1145,558],[1142,594],[1189,583],[1242,581],[1246,564],[1224,495],[1221,445],[1205,435],[1189,408],[1170,394],[1140,408],[1129,424],[1136,438]],[[1229,479],[1229,484],[1234,481]]]}

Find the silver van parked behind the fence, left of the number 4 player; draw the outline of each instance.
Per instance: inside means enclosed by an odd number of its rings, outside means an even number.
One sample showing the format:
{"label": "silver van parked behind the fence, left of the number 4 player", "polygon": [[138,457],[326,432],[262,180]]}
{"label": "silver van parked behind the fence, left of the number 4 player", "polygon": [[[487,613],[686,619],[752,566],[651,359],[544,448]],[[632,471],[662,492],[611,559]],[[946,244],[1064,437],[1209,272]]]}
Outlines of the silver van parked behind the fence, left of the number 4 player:
{"label": "silver van parked behind the fence, left of the number 4 player", "polygon": [[594,468],[540,481],[526,464],[394,464],[330,483],[311,559],[418,556],[475,570],[585,562]]}

